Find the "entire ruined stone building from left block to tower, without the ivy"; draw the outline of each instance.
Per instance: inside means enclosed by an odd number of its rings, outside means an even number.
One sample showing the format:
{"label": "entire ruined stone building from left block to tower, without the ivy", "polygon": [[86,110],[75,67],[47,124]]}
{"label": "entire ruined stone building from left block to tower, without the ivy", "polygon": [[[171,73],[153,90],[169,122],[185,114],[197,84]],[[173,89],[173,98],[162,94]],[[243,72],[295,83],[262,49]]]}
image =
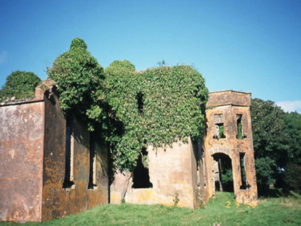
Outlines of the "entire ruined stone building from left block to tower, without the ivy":
{"label": "entire ruined stone building from left block to tower, without the ivy", "polygon": [[147,165],[140,158],[133,175],[116,173],[109,185],[106,145],[75,116],[65,119],[55,87],[2,104],[0,220],[51,220],[122,201],[195,208],[216,191],[257,205],[250,105],[250,93],[211,92],[202,143],[148,146]]}

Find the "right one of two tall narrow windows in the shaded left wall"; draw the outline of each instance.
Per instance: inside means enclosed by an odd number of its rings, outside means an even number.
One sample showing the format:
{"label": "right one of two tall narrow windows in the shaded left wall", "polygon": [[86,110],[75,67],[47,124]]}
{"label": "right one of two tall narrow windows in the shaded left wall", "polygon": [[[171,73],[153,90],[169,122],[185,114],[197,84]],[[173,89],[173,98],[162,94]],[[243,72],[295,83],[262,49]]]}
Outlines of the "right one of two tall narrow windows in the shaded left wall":
{"label": "right one of two tall narrow windows in the shaded left wall", "polygon": [[88,189],[95,189],[96,185],[96,143],[95,134],[90,134],[90,174]]}

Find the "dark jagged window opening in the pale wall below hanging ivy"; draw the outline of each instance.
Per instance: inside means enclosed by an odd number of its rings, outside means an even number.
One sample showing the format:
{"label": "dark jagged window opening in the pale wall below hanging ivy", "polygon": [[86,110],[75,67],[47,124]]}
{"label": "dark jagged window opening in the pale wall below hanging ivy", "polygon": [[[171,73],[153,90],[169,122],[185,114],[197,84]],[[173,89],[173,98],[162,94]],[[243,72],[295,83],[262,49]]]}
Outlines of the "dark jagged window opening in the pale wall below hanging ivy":
{"label": "dark jagged window opening in the pale wall below hanging ivy", "polygon": [[133,172],[133,188],[153,187],[153,184],[150,183],[148,166],[146,163],[147,154],[146,148],[143,148],[138,157],[137,166]]}

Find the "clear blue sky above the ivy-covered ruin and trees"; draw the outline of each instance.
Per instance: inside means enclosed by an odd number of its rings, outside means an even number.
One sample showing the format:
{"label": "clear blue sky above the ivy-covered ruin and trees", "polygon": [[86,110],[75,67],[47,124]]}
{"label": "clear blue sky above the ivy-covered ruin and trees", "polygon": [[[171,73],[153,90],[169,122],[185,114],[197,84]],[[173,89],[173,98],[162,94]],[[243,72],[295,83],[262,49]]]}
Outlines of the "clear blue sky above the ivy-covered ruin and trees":
{"label": "clear blue sky above the ivy-covered ruin and trees", "polygon": [[210,91],[252,92],[301,113],[301,1],[1,0],[0,86],[46,68],[75,37],[104,67],[194,65]]}

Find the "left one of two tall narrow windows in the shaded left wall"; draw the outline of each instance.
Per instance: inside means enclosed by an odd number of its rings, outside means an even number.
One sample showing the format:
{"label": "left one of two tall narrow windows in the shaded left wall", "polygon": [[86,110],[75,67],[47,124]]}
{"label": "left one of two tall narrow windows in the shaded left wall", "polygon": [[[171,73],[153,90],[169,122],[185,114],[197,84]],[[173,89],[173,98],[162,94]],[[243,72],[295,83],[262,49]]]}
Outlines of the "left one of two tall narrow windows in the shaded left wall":
{"label": "left one of two tall narrow windows in the shaded left wall", "polygon": [[72,132],[71,120],[66,120],[66,154],[65,154],[65,178],[63,188],[72,188],[74,179],[74,133]]}

